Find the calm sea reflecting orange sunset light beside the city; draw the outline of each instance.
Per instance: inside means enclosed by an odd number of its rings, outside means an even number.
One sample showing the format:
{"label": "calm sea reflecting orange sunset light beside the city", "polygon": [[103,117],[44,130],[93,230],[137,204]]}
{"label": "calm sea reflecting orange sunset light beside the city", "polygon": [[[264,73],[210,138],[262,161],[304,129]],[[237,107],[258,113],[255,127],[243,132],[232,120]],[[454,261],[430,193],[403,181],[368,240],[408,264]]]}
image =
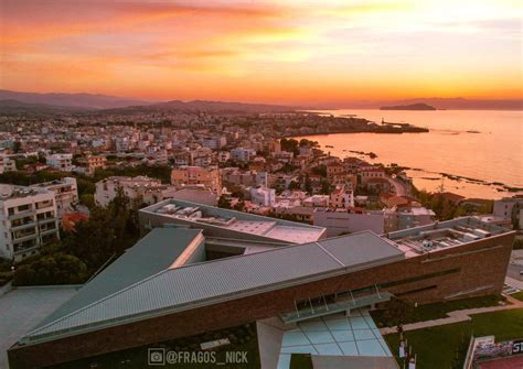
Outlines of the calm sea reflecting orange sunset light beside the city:
{"label": "calm sea reflecting orange sunset light beside the city", "polygon": [[[395,111],[332,110],[335,116],[356,115],[380,122],[406,122],[430,129],[429,133],[342,133],[308,137],[331,154],[359,156],[348,150],[374,152],[373,162],[421,169],[408,171],[419,188],[435,191],[440,172],[523,187],[523,111]],[[470,133],[467,131],[479,131]],[[324,145],[332,145],[324,148]],[[364,156],[361,156],[364,158]],[[369,160],[369,159],[367,159]],[[371,160],[372,161],[372,160]],[[445,180],[445,189],[469,197],[508,195],[495,186]]]}

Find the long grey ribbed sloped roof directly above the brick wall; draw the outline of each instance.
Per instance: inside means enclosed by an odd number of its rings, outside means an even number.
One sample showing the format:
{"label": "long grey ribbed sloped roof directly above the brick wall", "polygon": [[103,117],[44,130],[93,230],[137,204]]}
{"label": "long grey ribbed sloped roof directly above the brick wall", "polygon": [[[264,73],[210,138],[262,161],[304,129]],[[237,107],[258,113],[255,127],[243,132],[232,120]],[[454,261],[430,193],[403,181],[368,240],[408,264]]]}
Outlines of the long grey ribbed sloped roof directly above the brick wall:
{"label": "long grey ribbed sloped roof directly above the brick wall", "polygon": [[402,251],[367,231],[168,269],[42,325],[23,340],[194,308],[401,258]]}

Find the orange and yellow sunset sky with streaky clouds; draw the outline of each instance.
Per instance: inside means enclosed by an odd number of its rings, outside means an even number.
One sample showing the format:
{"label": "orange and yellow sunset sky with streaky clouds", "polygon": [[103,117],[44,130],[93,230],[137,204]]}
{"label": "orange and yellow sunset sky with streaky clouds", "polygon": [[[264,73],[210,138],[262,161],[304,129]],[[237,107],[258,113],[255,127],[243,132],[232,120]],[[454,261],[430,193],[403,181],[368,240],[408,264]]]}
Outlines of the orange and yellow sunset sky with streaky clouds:
{"label": "orange and yellow sunset sky with streaky clouds", "polygon": [[0,88],[282,104],[521,98],[521,1],[0,0]]}

